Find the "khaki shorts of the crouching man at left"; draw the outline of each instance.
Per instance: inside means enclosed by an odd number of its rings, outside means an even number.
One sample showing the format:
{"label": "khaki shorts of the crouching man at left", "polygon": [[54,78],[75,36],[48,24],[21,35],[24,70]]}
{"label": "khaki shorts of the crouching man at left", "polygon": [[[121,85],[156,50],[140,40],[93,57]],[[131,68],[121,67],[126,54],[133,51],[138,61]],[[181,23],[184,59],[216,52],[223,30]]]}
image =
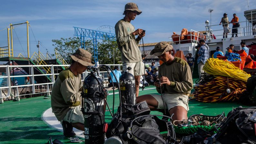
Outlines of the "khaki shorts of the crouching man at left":
{"label": "khaki shorts of the crouching man at left", "polygon": [[81,106],[76,106],[74,109],[71,108],[63,118],[63,121],[67,121],[69,123],[84,123],[84,115],[81,111]]}

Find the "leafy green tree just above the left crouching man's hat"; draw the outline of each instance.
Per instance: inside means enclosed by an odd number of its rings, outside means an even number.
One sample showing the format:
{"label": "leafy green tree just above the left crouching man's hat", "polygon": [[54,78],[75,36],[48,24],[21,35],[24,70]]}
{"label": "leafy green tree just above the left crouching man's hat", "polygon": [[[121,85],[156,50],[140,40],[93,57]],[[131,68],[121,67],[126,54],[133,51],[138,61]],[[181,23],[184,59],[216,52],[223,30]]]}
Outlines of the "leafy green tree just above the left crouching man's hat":
{"label": "leafy green tree just above the left crouching man's hat", "polygon": [[[52,42],[54,43],[54,49],[60,53],[68,64],[72,61],[69,56],[75,53],[78,48],[81,48],[81,42],[78,37],[61,38],[60,40],[52,40]],[[84,43],[82,44],[84,45]],[[85,41],[85,49],[90,53],[93,52],[93,43],[91,40]]]}

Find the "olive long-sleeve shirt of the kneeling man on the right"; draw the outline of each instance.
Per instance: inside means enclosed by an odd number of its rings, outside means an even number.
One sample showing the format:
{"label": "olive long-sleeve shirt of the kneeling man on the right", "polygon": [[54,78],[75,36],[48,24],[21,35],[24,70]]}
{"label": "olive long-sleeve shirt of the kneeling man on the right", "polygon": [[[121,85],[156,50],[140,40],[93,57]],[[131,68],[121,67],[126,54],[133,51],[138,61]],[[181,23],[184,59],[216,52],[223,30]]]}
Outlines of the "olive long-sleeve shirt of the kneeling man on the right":
{"label": "olive long-sleeve shirt of the kneeling man on the right", "polygon": [[[170,64],[164,62],[160,65],[159,77],[167,77],[171,82],[168,86],[163,84],[162,93],[190,93],[193,87],[191,70],[188,63],[181,58],[175,57]],[[160,88],[156,87],[157,92],[161,93]]]}

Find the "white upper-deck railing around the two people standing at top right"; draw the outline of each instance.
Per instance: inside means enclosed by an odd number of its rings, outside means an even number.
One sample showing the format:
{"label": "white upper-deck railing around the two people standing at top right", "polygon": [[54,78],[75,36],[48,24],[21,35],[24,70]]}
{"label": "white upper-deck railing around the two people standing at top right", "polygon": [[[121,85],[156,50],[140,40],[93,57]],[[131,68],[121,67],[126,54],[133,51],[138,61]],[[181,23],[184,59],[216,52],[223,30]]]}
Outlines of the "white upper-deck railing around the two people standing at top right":
{"label": "white upper-deck railing around the two people standing at top right", "polygon": [[[238,22],[240,24],[239,27],[237,28],[232,28],[232,25],[233,23],[230,23],[228,24],[230,29],[231,29],[231,32],[228,33],[227,35],[232,35],[232,29],[237,29],[238,30],[238,36],[249,36],[249,35],[253,35],[253,31],[252,31],[252,28],[253,28],[253,25],[251,23],[254,23],[254,21],[256,20],[250,20],[250,21],[241,21],[241,22]],[[245,25],[245,26],[244,26]],[[222,29],[217,29],[217,30],[212,30],[210,29],[210,27],[222,27]],[[215,24],[215,25],[208,25],[208,26],[205,26],[206,27],[206,33],[207,34],[207,39],[213,39],[213,36],[215,36],[216,38],[222,38],[223,36],[223,26],[222,24]],[[210,31],[210,32],[209,32]],[[255,32],[254,32],[255,33]],[[209,35],[210,34],[210,35]],[[235,34],[234,34],[235,35]]]}

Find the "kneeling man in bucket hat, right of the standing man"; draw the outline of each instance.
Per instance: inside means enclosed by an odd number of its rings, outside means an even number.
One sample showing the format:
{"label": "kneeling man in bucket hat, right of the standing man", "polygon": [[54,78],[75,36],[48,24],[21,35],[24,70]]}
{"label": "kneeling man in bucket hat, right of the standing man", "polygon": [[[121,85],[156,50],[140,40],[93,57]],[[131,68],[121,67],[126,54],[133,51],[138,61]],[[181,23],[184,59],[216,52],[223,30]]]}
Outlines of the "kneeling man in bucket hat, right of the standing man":
{"label": "kneeling man in bucket hat, right of the standing man", "polygon": [[168,42],[160,42],[150,52],[158,56],[163,63],[159,67],[159,82],[154,82],[160,95],[147,94],[137,97],[137,102],[146,101],[151,110],[168,109],[173,120],[187,119],[188,96],[193,87],[192,75],[188,63],[171,54],[173,47]]}

